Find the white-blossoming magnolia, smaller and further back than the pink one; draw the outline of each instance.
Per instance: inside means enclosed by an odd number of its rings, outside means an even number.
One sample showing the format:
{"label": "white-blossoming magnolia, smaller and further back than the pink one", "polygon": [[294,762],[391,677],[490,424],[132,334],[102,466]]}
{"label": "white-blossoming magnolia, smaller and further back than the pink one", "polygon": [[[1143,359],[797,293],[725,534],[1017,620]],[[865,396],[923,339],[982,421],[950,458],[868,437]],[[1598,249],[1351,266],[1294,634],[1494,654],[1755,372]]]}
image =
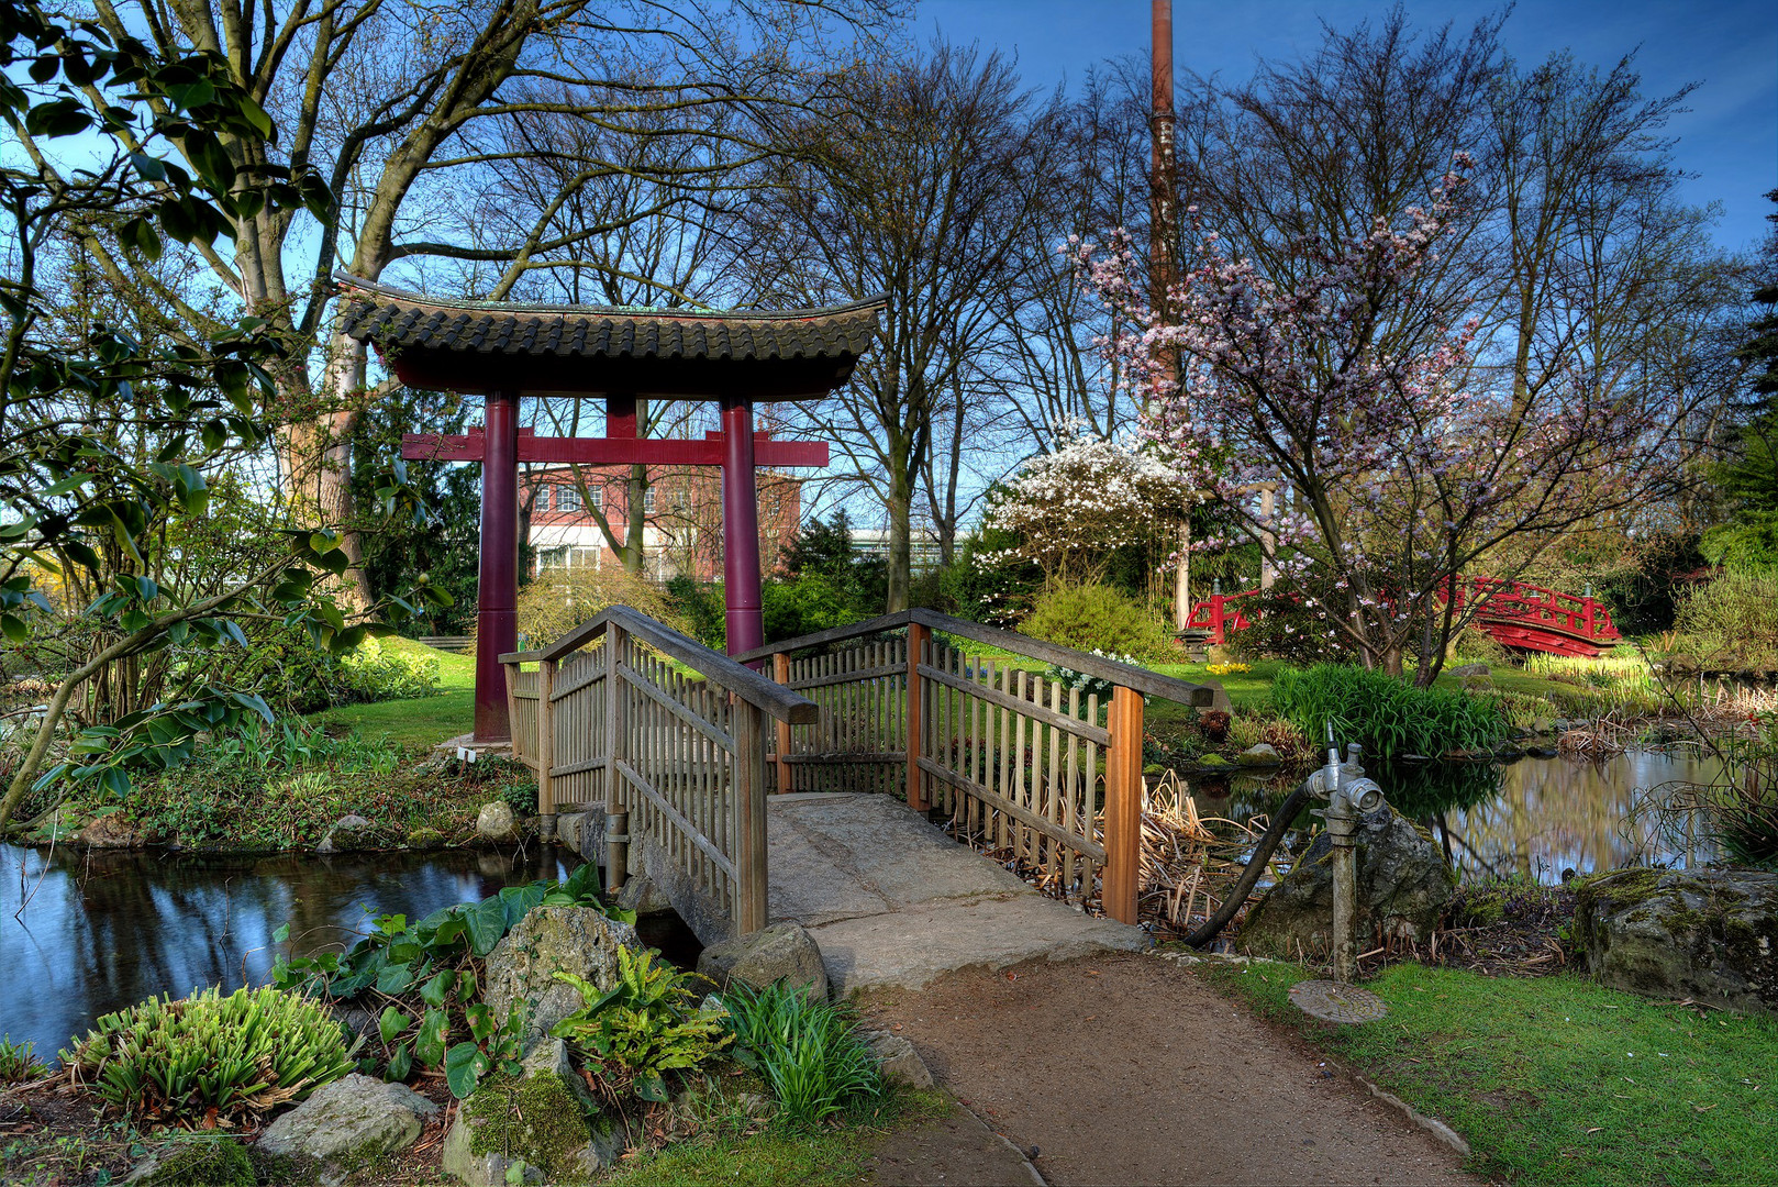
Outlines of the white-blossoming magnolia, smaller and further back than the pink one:
{"label": "white-blossoming magnolia, smaller and further back than the pink one", "polygon": [[1092,580],[1113,548],[1186,514],[1181,470],[1157,443],[1097,438],[1081,422],[1060,422],[1054,434],[1051,452],[989,497],[985,527],[1017,534],[1019,545],[978,553],[980,562],[1033,561],[1053,584]]}

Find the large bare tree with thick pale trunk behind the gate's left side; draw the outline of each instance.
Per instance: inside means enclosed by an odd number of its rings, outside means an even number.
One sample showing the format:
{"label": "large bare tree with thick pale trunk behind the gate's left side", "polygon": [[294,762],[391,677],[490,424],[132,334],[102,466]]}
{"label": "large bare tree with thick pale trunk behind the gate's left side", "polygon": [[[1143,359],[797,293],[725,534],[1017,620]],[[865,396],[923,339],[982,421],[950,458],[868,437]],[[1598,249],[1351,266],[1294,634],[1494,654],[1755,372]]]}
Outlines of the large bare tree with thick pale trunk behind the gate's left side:
{"label": "large bare tree with thick pale trunk behind the gate's left side", "polygon": [[[284,489],[300,516],[354,520],[348,484],[352,425],[373,399],[363,345],[334,335],[329,272],[345,265],[379,278],[398,262],[471,260],[498,267],[485,295],[510,292],[541,253],[565,253],[610,230],[564,231],[553,217],[505,228],[500,244],[466,242],[448,196],[482,185],[516,155],[496,121],[564,116],[592,126],[637,112],[695,112],[777,103],[800,94],[809,61],[834,21],[866,28],[875,0],[631,0],[605,11],[589,0],[92,0],[114,32],[146,32],[167,55],[181,46],[220,53],[283,135],[231,130],[219,137],[235,173],[233,251],[201,249],[220,287],[281,329],[290,363],[277,375],[290,429],[281,441]],[[642,68],[649,68],[647,73]],[[667,119],[672,135],[676,128]],[[727,167],[722,160],[717,167]],[[46,166],[48,167],[48,166]],[[580,169],[567,199],[610,171]],[[311,187],[306,214],[265,205],[267,187]],[[631,214],[647,214],[631,212]],[[87,249],[112,281],[181,313],[178,294],[155,288],[128,253],[98,237]],[[368,602],[354,568],[347,596]]]}

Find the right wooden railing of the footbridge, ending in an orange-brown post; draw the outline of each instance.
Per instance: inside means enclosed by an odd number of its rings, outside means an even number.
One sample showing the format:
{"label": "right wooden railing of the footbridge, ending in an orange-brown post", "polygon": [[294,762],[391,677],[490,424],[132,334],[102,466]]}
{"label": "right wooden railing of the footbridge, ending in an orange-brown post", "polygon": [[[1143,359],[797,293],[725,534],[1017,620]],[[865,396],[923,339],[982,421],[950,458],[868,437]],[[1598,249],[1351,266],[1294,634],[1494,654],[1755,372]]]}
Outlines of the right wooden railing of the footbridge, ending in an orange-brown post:
{"label": "right wooden railing of the footbridge, ending in an orange-brown post", "polygon": [[[937,635],[937,637],[935,637]],[[1109,696],[967,653],[980,642],[1109,685]],[[797,655],[804,653],[804,655]],[[1074,900],[1136,922],[1143,696],[1209,705],[1204,685],[981,623],[903,610],[766,644],[818,715],[781,717],[777,790],[905,790]]]}

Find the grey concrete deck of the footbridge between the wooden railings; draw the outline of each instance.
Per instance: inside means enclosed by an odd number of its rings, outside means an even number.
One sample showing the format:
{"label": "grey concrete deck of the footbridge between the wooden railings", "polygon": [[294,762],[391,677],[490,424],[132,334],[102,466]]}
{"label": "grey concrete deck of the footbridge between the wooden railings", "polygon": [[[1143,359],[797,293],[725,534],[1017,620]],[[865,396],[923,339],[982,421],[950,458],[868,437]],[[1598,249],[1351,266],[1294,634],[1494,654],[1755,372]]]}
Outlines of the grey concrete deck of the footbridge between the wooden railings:
{"label": "grey concrete deck of the footbridge between the wooden railings", "polygon": [[1045,899],[891,795],[798,792],[766,804],[772,922],[809,929],[836,995],[1149,945],[1136,927]]}

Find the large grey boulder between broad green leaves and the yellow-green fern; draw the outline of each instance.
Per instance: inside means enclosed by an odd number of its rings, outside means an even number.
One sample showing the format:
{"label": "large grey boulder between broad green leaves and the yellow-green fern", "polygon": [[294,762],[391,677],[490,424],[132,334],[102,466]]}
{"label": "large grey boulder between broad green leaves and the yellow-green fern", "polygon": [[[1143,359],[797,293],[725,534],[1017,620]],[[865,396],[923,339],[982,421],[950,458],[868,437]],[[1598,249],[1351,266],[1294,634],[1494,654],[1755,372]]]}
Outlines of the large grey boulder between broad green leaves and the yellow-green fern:
{"label": "large grey boulder between broad green leaves and the yellow-green fern", "polygon": [[555,979],[569,972],[601,989],[617,984],[617,949],[640,949],[637,929],[597,908],[533,908],[487,954],[482,1000],[494,1018],[525,1007],[526,1052],[585,1002],[574,986]]}

